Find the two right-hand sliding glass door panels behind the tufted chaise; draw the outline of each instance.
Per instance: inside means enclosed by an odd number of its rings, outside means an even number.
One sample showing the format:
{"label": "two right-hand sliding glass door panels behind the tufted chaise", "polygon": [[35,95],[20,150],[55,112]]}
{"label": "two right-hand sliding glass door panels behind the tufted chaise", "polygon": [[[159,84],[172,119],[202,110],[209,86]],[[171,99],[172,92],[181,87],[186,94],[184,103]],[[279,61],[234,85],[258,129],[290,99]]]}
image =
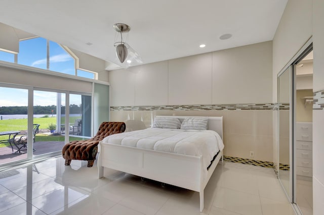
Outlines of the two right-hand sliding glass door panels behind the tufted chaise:
{"label": "two right-hand sliding glass door panels behind the tufted chaise", "polygon": [[33,110],[33,125],[38,126],[33,155],[61,151],[69,141],[91,137],[91,95],[37,90]]}

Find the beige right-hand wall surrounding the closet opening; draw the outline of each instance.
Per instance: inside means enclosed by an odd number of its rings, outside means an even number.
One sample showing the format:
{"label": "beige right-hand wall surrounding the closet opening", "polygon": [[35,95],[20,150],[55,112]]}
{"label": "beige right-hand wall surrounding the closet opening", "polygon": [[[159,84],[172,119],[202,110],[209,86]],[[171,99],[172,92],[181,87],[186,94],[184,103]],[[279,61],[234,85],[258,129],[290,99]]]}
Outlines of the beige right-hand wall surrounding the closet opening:
{"label": "beige right-hand wall surrounding the closet opening", "polygon": [[[312,35],[313,91],[324,90],[324,1],[289,0],[273,39],[273,101],[276,75]],[[276,125],[273,131],[276,131]],[[322,214],[324,205],[324,110],[313,110],[313,214]],[[276,143],[273,145],[275,146]]]}

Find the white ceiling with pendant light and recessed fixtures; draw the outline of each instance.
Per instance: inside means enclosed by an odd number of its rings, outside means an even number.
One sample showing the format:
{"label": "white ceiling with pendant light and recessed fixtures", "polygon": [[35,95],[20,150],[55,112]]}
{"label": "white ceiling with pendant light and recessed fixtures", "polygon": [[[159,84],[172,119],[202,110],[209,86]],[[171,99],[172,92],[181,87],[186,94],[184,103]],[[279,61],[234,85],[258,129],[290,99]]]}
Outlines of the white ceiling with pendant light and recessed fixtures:
{"label": "white ceiling with pendant light and recessed fixtures", "polygon": [[[2,0],[0,22],[110,62],[112,69],[118,67],[115,23],[131,27],[128,43],[147,64],[272,40],[287,1]],[[219,39],[227,33],[232,37]]]}

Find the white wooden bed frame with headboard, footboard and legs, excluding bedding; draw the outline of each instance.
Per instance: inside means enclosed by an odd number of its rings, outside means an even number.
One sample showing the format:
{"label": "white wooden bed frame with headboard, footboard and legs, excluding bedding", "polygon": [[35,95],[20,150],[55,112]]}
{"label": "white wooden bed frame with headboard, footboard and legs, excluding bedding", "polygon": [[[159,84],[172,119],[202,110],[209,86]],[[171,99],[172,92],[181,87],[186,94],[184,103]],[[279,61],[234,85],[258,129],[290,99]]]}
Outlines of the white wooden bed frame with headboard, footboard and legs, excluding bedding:
{"label": "white wooden bed frame with headboard, footboard and legs, excluding bedding", "polygon": [[[166,116],[156,116],[166,117]],[[184,119],[183,116],[168,116]],[[223,139],[223,117],[209,117],[208,129],[216,131]],[[141,149],[99,142],[98,170],[103,177],[104,168],[152,179],[199,192],[200,212],[204,209],[204,189],[211,178],[223,150],[218,153],[205,177],[203,158],[185,154]]]}

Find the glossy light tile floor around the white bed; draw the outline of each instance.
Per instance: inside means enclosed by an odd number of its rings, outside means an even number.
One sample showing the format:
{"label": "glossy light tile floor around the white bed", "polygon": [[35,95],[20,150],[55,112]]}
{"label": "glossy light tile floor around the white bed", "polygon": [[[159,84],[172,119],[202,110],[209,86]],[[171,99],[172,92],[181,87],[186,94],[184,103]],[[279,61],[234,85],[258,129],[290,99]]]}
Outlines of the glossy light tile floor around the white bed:
{"label": "glossy light tile floor around the white bed", "polygon": [[272,169],[220,163],[199,194],[61,157],[0,173],[0,214],[295,214]]}

